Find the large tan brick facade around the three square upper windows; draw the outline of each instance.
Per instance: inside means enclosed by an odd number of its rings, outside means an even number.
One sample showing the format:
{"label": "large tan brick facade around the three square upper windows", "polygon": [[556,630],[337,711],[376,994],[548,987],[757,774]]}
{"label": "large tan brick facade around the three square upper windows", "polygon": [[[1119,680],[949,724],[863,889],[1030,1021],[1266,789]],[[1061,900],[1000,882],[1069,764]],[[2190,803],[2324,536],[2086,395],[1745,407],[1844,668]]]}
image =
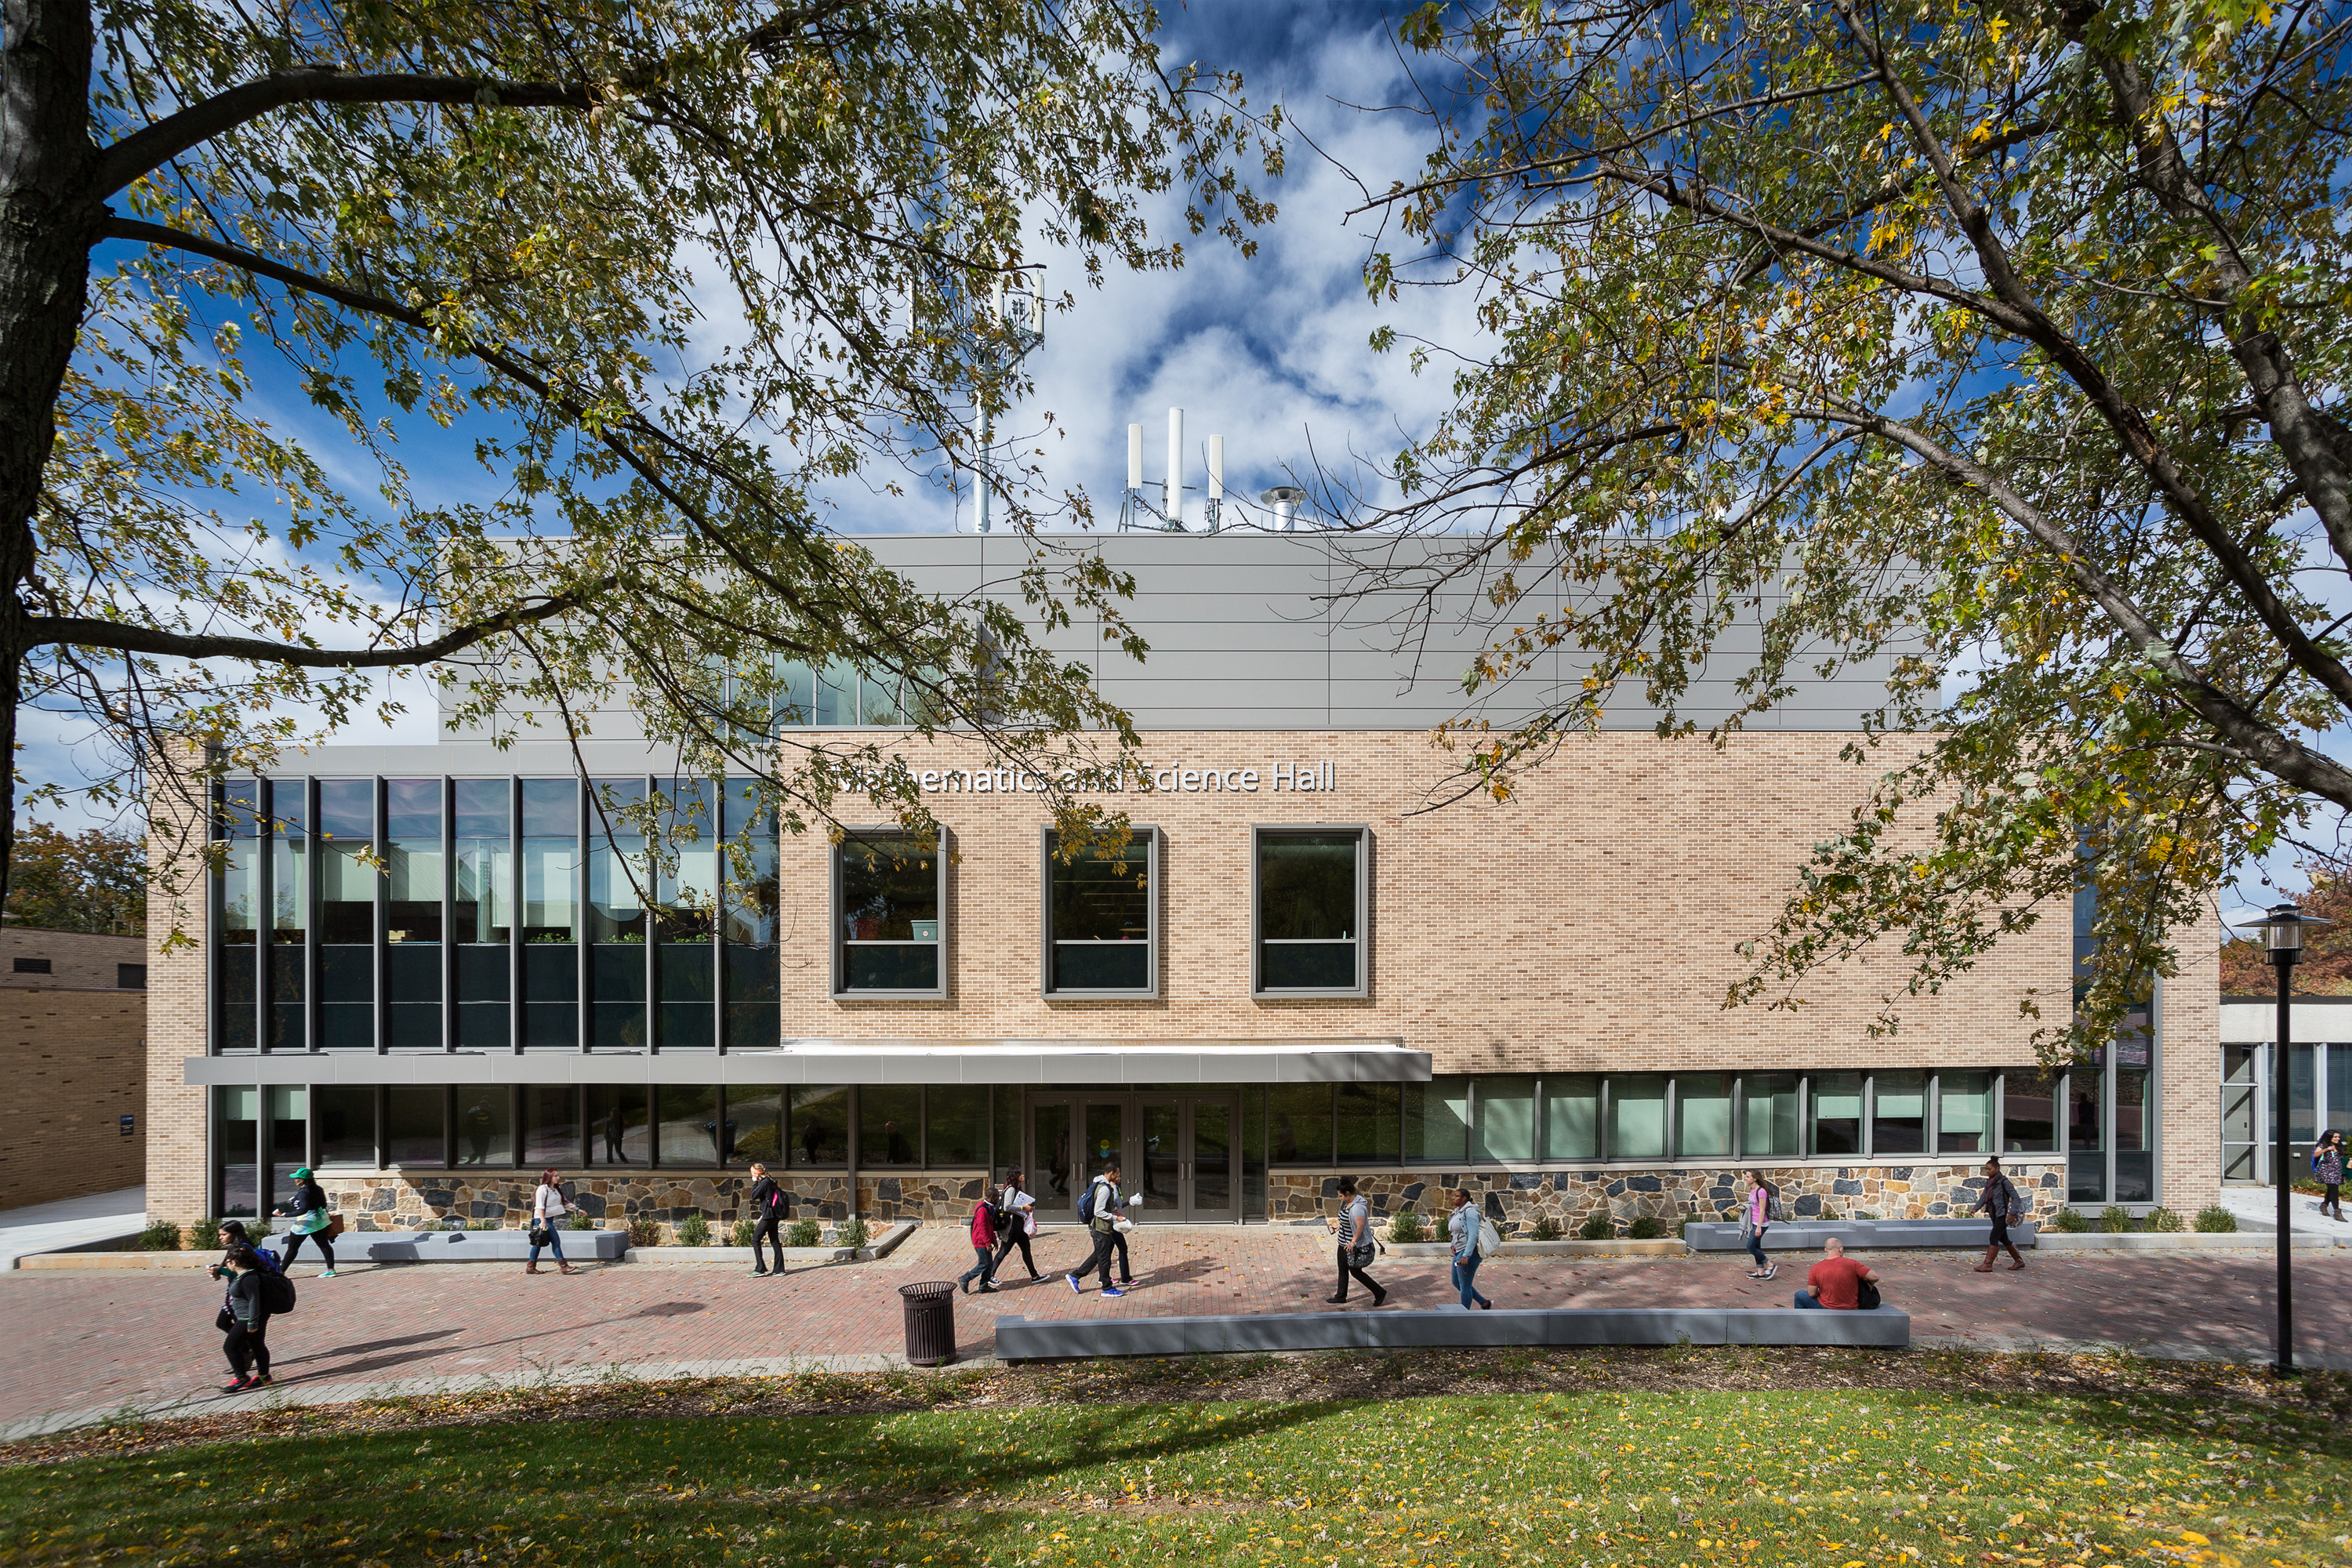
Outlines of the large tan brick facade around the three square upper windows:
{"label": "large tan brick facade around the three square upper windows", "polygon": [[[1397,1034],[1437,1072],[2018,1065],[2018,999],[2067,994],[2070,910],[1870,1039],[1903,980],[1889,954],[1820,973],[1806,1006],[1722,1011],[1809,846],[1837,832],[1870,773],[1849,736],[1661,743],[1602,733],[1562,748],[1515,802],[1430,802],[1444,757],[1423,733],[1160,733],[1160,764],[1254,766],[1256,795],[1120,795],[1162,835],[1162,994],[1037,994],[1037,795],[929,795],[953,832],[950,997],[833,1001],[828,846],[783,846],[783,1034],[1350,1037]],[[941,762],[957,755],[943,745]],[[1336,769],[1329,795],[1272,792],[1272,762]],[[1371,997],[1249,997],[1251,823],[1374,830]]]}

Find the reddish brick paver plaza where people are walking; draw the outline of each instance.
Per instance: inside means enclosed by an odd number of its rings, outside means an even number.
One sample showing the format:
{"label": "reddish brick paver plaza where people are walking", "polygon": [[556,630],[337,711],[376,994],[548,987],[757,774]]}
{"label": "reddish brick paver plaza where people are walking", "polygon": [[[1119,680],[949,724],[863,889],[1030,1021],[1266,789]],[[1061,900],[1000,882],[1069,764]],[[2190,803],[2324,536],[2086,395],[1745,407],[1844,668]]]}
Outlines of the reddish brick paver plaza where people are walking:
{"label": "reddish brick paver plaza where people are walking", "polygon": [[[1042,1269],[1073,1267],[1084,1237],[1037,1241]],[[957,1298],[962,1356],[990,1354],[997,1314],[1176,1316],[1322,1312],[1331,1248],[1305,1229],[1169,1227],[1134,1237],[1138,1286],[1124,1300],[1073,1295],[1058,1272],[1021,1276],[1000,1295]],[[2030,1255],[2032,1258],[2032,1255]],[[1508,1307],[1785,1305],[1816,1255],[1783,1258],[1764,1286],[1748,1258],[1498,1258],[1479,1286]],[[1924,1342],[2122,1342],[2263,1354],[2270,1347],[2272,1260],[2230,1255],[2032,1258],[2023,1274],[1976,1274],[1976,1253],[1865,1255],[1907,1307]],[[661,1371],[783,1356],[880,1356],[903,1349],[898,1286],[953,1279],[971,1251],[953,1229],[910,1237],[891,1258],[748,1279],[727,1265],[628,1262],[576,1276],[524,1276],[520,1265],[353,1267],[313,1281],[296,1267],[301,1309],[270,1326],[282,1385],[365,1385],[477,1375]],[[1388,1309],[1454,1300],[1444,1260],[1383,1260]],[[0,1427],[64,1410],[111,1410],[202,1396],[219,1387],[221,1288],[195,1269],[9,1272],[9,1366]],[[2352,1258],[2296,1260],[2298,1354],[2352,1349]],[[1355,1309],[1369,1309],[1357,1295]]]}

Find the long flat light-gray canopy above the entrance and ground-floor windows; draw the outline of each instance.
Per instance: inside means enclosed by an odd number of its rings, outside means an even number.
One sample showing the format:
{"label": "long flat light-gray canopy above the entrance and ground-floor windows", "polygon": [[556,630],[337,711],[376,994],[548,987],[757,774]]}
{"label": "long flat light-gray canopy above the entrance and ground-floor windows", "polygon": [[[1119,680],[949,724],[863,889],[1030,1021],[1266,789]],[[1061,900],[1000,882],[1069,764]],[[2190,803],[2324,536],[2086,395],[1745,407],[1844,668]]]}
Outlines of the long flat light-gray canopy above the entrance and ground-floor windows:
{"label": "long flat light-gray canopy above the entrance and ground-floor windows", "polygon": [[188,1084],[1425,1084],[1402,1039],[788,1039],[776,1051],[193,1056]]}

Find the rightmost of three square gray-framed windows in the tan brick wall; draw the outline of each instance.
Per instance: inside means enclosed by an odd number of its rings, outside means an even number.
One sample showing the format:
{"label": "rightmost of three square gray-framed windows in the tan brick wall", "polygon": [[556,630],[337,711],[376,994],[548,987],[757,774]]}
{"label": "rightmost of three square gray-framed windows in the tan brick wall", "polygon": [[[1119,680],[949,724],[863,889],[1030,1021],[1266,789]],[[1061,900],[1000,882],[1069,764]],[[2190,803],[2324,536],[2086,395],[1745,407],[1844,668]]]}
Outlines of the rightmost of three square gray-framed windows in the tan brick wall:
{"label": "rightmost of three square gray-framed windows in the tan brick wall", "polygon": [[1251,992],[1362,997],[1371,877],[1362,827],[1258,827],[1251,858]]}

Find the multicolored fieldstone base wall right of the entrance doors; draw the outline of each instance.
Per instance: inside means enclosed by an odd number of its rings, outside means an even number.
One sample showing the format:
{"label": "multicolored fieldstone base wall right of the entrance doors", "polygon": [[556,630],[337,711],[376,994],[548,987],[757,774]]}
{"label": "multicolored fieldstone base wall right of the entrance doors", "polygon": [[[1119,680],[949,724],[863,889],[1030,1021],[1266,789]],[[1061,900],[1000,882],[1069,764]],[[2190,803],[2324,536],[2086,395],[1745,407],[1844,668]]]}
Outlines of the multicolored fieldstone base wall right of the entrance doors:
{"label": "multicolored fieldstone base wall right of the entrance doors", "polygon": [[[1919,1166],[1792,1166],[1764,1168],[1780,1187],[1780,1211],[1792,1220],[1835,1215],[1853,1220],[1924,1220],[1964,1215],[1985,1185],[1983,1161],[1938,1161]],[[2063,1161],[2018,1161],[2004,1166],[2037,1220],[2065,1206]],[[1486,1215],[1505,1232],[1534,1227],[1543,1215],[1559,1222],[1562,1234],[1597,1213],[1618,1225],[1651,1215],[1672,1227],[1693,1211],[1703,1220],[1736,1218],[1738,1171],[1663,1168],[1663,1171],[1352,1171],[1355,1185],[1378,1218],[1414,1208],[1442,1215],[1451,1204],[1446,1187],[1479,1194]],[[1338,1178],[1275,1171],[1268,1175],[1272,1222],[1322,1222],[1338,1213]]]}

